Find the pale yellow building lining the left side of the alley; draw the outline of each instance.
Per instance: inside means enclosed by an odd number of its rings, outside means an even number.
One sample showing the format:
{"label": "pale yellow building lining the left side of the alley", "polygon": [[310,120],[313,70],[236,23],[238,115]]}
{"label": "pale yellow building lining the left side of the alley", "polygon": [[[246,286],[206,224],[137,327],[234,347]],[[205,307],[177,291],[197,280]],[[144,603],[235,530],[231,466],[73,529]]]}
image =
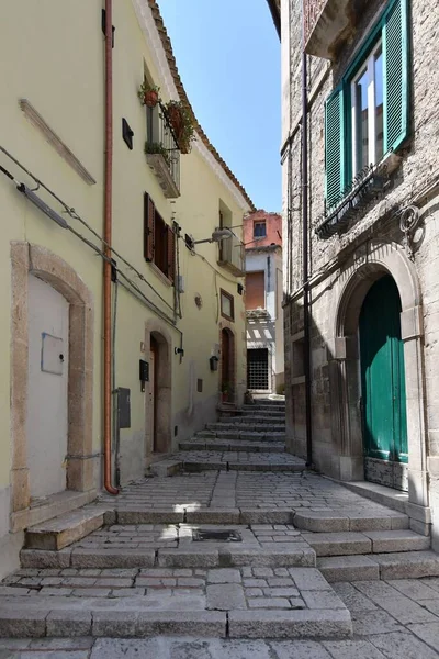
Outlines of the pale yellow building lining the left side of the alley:
{"label": "pale yellow building lining the left side of the alley", "polygon": [[205,241],[252,203],[193,115],[155,0],[104,8],[18,0],[0,29],[0,576],[24,528],[214,421],[225,372],[234,402],[246,390],[241,233]]}

